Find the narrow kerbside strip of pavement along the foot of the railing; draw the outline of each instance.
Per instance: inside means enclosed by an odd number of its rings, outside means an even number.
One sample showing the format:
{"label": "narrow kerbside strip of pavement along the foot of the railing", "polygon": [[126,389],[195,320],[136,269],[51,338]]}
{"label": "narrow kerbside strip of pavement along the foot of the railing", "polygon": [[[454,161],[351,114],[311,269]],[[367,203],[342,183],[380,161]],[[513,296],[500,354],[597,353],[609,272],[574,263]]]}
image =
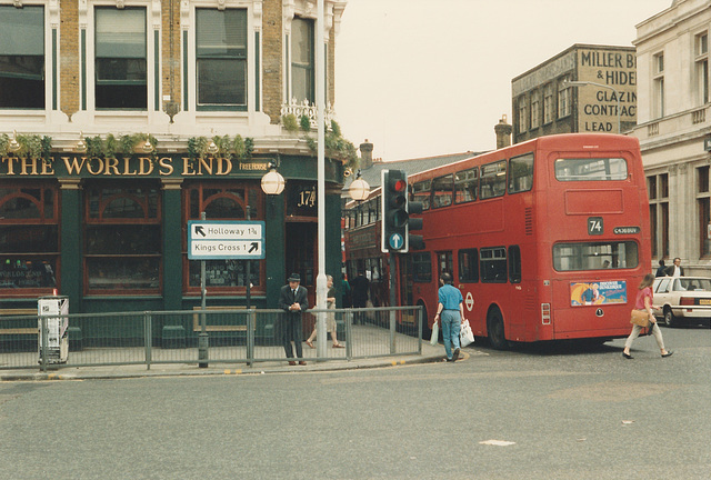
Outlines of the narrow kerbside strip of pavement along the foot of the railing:
{"label": "narrow kerbside strip of pavement along the foot of the railing", "polygon": [[[473,346],[462,349],[460,360],[465,361],[474,351]],[[444,358],[442,344],[431,346],[429,341],[422,341],[422,353],[398,354],[390,357],[370,357],[346,359],[328,359],[318,361],[307,359],[307,366],[289,366],[287,361],[254,362],[251,367],[247,363],[209,363],[200,368],[194,363],[152,363],[121,364],[101,367],[68,367],[49,366],[47,371],[33,369],[0,369],[0,381],[43,381],[43,380],[99,380],[146,377],[184,377],[184,376],[237,376],[237,374],[267,374],[267,373],[303,373],[327,372],[341,370],[372,369],[411,366],[418,363],[441,362]]]}

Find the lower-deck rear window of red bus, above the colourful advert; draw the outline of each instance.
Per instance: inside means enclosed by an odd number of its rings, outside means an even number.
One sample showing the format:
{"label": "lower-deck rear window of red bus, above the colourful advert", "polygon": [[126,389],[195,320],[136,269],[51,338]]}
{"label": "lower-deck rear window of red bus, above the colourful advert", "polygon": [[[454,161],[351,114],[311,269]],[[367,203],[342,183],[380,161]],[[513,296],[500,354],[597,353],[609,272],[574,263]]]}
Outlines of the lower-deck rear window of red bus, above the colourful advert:
{"label": "lower-deck rear window of red bus, above the colourful advert", "polygon": [[630,269],[639,264],[633,241],[558,243],[553,246],[553,268],[558,271]]}

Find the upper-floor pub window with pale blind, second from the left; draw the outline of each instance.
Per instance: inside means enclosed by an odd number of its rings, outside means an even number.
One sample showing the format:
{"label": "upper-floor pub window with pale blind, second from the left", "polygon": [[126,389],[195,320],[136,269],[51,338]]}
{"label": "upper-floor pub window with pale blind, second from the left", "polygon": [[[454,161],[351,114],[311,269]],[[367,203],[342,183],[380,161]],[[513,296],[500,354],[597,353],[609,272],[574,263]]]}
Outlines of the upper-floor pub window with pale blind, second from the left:
{"label": "upper-floor pub window with pale blind, second from the left", "polygon": [[98,109],[148,107],[146,9],[96,8]]}

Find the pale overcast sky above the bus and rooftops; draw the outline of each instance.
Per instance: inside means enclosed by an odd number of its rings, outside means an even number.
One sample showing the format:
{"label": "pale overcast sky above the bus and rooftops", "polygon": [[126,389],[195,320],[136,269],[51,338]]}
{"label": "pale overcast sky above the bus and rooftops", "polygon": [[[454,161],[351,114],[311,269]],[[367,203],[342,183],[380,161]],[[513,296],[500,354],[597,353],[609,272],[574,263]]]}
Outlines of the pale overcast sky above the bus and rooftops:
{"label": "pale overcast sky above the bus and rooftops", "polygon": [[337,37],[336,113],[373,157],[495,148],[511,80],[573,43],[632,46],[672,0],[349,0]]}

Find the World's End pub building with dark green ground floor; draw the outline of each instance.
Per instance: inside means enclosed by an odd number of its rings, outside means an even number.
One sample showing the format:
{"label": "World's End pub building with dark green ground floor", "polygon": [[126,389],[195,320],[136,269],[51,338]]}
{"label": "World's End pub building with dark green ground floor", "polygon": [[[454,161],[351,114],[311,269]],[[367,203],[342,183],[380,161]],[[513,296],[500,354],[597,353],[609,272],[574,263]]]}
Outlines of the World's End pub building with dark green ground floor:
{"label": "World's End pub building with dark green ground floor", "polygon": [[[328,104],[344,7],[326,1]],[[199,307],[202,212],[264,222],[263,259],[206,261],[208,306],[246,306],[251,281],[251,307],[277,308],[291,272],[314,304],[316,27],[300,0],[0,0],[0,314],[53,293],[70,313]],[[327,141],[334,278],[350,147]]]}

